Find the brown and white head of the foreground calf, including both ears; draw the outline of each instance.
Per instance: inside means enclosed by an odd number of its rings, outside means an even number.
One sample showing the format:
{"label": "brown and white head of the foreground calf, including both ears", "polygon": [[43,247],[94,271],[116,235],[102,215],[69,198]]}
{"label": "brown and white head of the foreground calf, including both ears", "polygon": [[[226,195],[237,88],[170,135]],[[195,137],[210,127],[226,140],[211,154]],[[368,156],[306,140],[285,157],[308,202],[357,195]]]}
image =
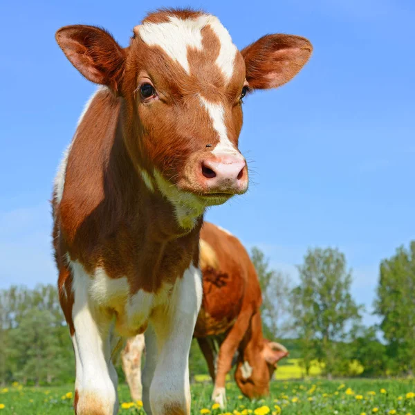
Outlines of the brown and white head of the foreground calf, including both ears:
{"label": "brown and white head of the foreground calf, including both ears", "polygon": [[181,206],[178,216],[246,192],[242,100],[291,80],[312,50],[302,37],[266,35],[239,51],[216,17],[192,10],[148,15],[127,48],[93,26],[66,26],[56,39],[84,77],[122,100],[137,172]]}

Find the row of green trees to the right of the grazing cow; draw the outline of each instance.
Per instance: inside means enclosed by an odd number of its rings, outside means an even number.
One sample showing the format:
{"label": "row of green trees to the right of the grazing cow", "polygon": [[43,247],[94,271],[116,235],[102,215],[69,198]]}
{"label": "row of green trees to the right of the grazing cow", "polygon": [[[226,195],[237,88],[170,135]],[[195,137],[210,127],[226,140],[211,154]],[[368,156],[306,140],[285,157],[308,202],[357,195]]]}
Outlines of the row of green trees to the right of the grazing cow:
{"label": "row of green trees to the right of the grazing cow", "polygon": [[[412,376],[415,369],[415,241],[380,262],[374,314],[380,324],[362,324],[364,306],[351,295],[352,271],[338,249],[309,249],[297,266],[299,283],[270,269],[254,248],[264,303],[264,331],[284,341],[291,333],[295,357],[306,374],[319,362],[324,374]],[[288,347],[290,344],[287,343]]]}

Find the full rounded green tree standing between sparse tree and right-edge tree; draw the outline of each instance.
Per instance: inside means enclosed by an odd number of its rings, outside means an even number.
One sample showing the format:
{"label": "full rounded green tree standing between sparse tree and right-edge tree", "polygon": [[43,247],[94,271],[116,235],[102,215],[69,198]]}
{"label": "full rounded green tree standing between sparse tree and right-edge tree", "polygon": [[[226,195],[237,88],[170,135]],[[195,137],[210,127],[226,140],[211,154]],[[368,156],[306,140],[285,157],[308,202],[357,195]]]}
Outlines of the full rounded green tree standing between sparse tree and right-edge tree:
{"label": "full rounded green tree standing between sparse tree and right-edge tree", "polygon": [[308,250],[298,270],[299,285],[292,291],[291,304],[303,365],[308,372],[311,360],[318,359],[331,378],[346,366],[342,342],[350,340],[348,333],[360,321],[362,306],[351,297],[351,271],[339,250]]}

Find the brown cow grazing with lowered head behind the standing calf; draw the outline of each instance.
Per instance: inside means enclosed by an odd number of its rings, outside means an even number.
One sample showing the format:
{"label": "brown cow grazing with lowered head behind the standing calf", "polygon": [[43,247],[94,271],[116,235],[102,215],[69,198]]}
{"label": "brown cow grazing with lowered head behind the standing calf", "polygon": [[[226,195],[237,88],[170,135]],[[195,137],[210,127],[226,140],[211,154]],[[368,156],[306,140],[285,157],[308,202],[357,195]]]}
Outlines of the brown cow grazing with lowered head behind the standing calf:
{"label": "brown cow grazing with lowered head behind the standing calf", "polygon": [[[262,335],[261,288],[248,252],[232,234],[205,222],[201,230],[200,267],[203,299],[194,337],[205,356],[214,382],[212,399],[225,406],[225,376],[237,356],[235,380],[249,398],[269,392],[278,360],[288,355],[284,346]],[[130,339],[123,361],[131,396],[140,399],[135,377],[140,376],[142,335]],[[133,348],[135,343],[142,344]],[[134,360],[135,365],[127,362]],[[125,370],[125,369],[124,369]]]}

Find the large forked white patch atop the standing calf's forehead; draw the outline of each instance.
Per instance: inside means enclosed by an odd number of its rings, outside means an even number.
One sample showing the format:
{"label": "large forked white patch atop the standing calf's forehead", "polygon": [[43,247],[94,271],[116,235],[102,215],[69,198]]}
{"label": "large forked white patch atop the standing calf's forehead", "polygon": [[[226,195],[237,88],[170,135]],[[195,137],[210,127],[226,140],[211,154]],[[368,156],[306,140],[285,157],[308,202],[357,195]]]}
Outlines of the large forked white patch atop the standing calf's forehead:
{"label": "large forked white patch atop the standing calf's forehead", "polygon": [[234,58],[237,47],[219,19],[211,15],[202,15],[196,19],[180,19],[170,16],[169,21],[163,23],[145,23],[138,26],[138,33],[145,44],[160,46],[169,57],[176,60],[187,73],[190,65],[187,59],[187,49],[202,50],[202,33],[205,26],[210,26],[221,44],[216,64],[219,66],[226,80],[233,73]]}

